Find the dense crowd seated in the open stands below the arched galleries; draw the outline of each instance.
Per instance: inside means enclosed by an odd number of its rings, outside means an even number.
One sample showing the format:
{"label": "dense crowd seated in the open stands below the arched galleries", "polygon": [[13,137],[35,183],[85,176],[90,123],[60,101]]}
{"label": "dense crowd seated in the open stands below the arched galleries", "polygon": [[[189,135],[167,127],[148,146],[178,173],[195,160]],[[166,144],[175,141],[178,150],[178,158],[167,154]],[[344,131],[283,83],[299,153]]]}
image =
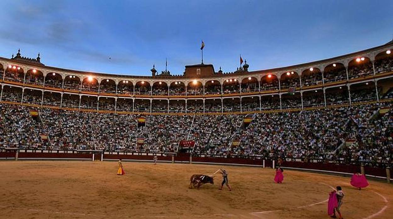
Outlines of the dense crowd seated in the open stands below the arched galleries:
{"label": "dense crowd seated in the open stands below the arched galleries", "polygon": [[[34,108],[39,119],[33,119],[29,107],[1,104],[0,147],[174,152],[179,141],[194,140],[194,154],[389,163],[393,117],[391,112],[372,117],[379,107],[392,102],[249,114],[249,125],[244,114],[147,115],[145,126],[138,127],[136,114]],[[48,142],[40,133],[48,134]],[[356,141],[342,147],[346,139]]]}

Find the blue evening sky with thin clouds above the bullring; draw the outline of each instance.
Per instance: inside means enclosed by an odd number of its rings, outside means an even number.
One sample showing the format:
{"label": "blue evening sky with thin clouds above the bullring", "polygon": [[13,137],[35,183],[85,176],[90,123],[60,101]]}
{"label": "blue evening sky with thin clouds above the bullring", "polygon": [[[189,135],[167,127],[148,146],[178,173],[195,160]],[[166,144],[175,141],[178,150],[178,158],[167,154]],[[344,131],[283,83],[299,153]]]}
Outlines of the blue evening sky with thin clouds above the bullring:
{"label": "blue evening sky with thin clouds above the bullring", "polygon": [[[393,38],[391,0],[2,0],[0,56],[41,53],[44,64],[150,75],[204,63],[250,71],[310,62]],[[108,57],[111,57],[109,60]]]}

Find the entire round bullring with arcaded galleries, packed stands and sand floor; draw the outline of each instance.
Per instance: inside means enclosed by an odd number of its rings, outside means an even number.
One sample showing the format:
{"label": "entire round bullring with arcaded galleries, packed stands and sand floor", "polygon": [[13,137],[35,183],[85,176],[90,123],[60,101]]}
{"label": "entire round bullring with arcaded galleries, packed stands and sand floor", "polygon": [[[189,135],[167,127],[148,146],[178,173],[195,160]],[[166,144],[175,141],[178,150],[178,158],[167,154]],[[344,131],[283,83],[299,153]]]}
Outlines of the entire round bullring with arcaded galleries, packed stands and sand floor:
{"label": "entire round bullring with arcaded galleries, packed stands and sand floor", "polygon": [[0,217],[320,219],[337,190],[343,218],[391,218],[392,50],[151,76],[0,57]]}

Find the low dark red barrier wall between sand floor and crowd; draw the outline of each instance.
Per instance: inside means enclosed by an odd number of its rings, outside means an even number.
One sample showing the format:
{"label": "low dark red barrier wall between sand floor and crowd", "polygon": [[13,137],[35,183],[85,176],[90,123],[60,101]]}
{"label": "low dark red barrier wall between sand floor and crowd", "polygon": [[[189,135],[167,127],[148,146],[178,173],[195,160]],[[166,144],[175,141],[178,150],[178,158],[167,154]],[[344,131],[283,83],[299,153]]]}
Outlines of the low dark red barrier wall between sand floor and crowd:
{"label": "low dark red barrier wall between sand floor and crowd", "polygon": [[[198,163],[211,165],[237,165],[274,168],[275,161],[260,156],[248,157],[208,157],[208,156],[178,156],[175,153],[138,153],[138,152],[101,152],[83,150],[23,150],[23,149],[0,149],[0,160],[86,160],[86,161],[148,161],[152,162],[153,157],[157,156],[159,162],[167,163]],[[283,168],[313,171],[331,174],[351,175],[361,172],[360,165],[345,165],[337,163],[323,163],[318,160],[308,162],[292,161],[287,159],[282,163]],[[364,172],[368,177],[379,179],[389,179],[391,181],[390,168],[363,166]]]}

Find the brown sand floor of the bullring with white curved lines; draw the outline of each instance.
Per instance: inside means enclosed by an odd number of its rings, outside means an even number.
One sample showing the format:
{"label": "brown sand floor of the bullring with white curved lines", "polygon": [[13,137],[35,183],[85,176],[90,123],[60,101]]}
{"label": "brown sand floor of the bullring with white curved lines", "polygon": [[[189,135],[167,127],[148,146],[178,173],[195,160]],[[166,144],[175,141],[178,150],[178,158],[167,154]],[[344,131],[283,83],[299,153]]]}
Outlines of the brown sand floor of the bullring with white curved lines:
{"label": "brown sand floor of the bullring with white curved lines", "polygon": [[283,184],[270,168],[225,167],[233,187],[189,189],[192,174],[220,166],[123,162],[2,161],[0,218],[330,218],[330,186],[345,192],[345,219],[391,218],[393,186],[369,180],[356,190],[350,177],[285,170]]}

